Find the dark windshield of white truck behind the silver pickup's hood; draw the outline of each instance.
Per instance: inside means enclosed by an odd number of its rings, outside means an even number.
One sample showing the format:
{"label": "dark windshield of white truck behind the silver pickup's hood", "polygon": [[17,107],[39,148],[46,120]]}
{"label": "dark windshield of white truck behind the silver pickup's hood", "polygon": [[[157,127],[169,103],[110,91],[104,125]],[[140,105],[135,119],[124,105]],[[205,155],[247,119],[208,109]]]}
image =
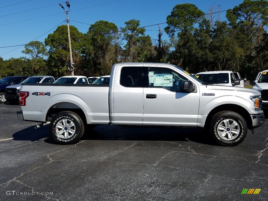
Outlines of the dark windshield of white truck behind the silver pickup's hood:
{"label": "dark windshield of white truck behind the silver pickup's hood", "polygon": [[209,84],[227,84],[229,83],[228,73],[198,74],[196,78]]}

